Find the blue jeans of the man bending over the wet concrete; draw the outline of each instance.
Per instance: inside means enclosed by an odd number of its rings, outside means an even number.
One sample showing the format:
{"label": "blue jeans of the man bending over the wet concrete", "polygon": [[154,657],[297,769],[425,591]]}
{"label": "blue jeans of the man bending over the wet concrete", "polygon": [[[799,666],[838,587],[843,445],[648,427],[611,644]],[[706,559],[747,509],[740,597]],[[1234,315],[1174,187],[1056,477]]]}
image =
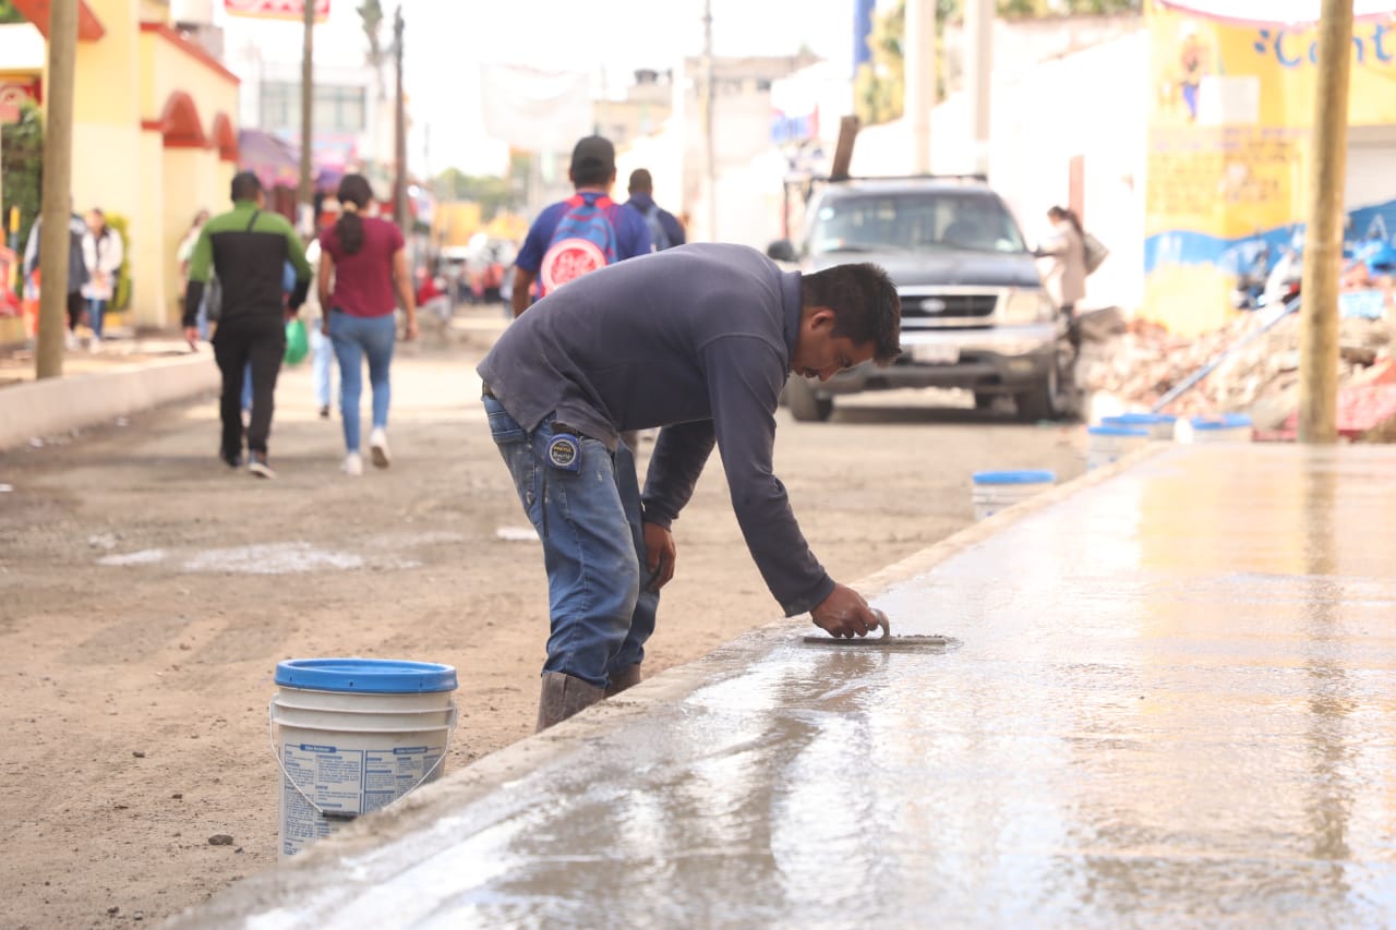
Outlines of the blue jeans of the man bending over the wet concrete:
{"label": "blue jeans of the man bending over the wet concrete", "polygon": [[528,433],[493,397],[484,412],[543,540],[551,630],[543,670],[603,688],[645,658],[659,609],[659,595],[641,591],[649,573],[634,454],[582,437],[578,471],[563,471],[549,464],[551,416]]}

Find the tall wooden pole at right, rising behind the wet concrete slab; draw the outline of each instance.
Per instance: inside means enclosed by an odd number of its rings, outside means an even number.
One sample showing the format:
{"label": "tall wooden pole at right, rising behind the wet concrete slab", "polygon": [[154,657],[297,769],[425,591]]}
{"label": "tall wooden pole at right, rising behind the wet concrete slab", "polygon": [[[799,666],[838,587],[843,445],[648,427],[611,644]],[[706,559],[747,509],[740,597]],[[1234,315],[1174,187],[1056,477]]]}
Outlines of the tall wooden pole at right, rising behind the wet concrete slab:
{"label": "tall wooden pole at right, rising behind the wet concrete slab", "polygon": [[1337,289],[1343,260],[1353,0],[1323,0],[1309,147],[1309,215],[1300,288],[1298,441],[1337,441]]}

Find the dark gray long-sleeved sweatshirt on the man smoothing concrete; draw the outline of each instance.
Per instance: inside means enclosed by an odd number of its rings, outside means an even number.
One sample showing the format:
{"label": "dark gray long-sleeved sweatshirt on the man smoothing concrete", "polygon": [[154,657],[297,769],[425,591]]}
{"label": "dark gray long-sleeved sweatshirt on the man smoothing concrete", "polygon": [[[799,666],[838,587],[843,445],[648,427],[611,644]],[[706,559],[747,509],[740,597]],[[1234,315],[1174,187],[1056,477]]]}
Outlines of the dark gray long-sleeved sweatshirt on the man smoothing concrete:
{"label": "dark gray long-sleeved sweatshirt on the man smoothing concrete", "polygon": [[775,412],[800,331],[800,275],[697,243],[570,282],[510,324],[479,373],[526,430],[553,413],[614,448],[664,427],[645,521],[670,526],[716,441],[751,557],[787,616],[833,591],[772,472]]}

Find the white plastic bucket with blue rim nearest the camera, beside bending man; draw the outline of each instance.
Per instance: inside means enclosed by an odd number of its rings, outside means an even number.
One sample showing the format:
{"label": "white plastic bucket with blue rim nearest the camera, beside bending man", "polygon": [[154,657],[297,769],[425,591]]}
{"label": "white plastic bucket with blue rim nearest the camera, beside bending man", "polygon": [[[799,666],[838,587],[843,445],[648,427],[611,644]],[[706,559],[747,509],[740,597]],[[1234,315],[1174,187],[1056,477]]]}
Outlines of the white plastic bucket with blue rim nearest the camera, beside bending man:
{"label": "white plastic bucket with blue rim nearest the camera, beside bending man", "polygon": [[288,659],[268,708],[281,768],[281,855],[441,775],[455,669],[391,659]]}

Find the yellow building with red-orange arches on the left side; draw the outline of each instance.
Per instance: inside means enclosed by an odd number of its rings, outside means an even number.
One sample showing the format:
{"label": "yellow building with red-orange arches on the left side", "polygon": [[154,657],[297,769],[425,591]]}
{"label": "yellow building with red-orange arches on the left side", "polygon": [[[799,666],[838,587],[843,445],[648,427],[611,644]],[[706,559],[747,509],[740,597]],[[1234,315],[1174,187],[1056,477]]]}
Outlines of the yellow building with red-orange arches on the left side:
{"label": "yellow building with red-orange arches on the left side", "polygon": [[[47,0],[14,6],[40,32]],[[0,81],[39,78],[0,66]],[[127,323],[179,320],[174,253],[201,208],[230,207],[237,77],[170,25],[168,0],[82,0],[73,103],[73,204],[128,222]],[[40,99],[42,102],[42,99]]]}

